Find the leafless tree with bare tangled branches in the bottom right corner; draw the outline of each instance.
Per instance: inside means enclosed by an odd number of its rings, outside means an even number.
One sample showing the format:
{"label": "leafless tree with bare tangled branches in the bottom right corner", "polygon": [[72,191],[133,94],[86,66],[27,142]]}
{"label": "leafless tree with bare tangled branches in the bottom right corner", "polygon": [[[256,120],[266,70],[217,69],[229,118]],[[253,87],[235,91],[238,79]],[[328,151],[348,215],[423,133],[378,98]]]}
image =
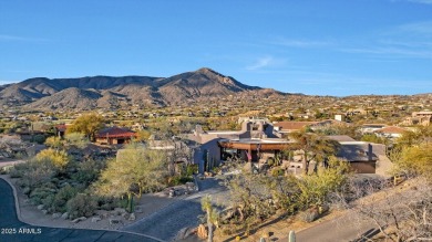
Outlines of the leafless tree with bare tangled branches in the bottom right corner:
{"label": "leafless tree with bare tangled branches in the bottom right corner", "polygon": [[335,198],[359,223],[373,223],[374,240],[432,241],[432,187],[423,178],[393,189],[385,181],[351,181]]}

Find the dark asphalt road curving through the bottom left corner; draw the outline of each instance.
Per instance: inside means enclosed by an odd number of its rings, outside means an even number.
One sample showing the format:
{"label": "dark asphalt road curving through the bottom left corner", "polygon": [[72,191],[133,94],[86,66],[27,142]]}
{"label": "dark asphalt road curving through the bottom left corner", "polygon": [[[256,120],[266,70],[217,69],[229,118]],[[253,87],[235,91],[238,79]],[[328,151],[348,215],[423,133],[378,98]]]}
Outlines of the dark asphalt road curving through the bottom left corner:
{"label": "dark asphalt road curving through the bottom left corner", "polygon": [[143,234],[105,230],[79,230],[59,229],[48,227],[33,227],[18,220],[16,201],[12,188],[0,178],[0,241],[1,242],[32,242],[32,241],[62,241],[62,242],[155,242],[163,241],[152,239]]}

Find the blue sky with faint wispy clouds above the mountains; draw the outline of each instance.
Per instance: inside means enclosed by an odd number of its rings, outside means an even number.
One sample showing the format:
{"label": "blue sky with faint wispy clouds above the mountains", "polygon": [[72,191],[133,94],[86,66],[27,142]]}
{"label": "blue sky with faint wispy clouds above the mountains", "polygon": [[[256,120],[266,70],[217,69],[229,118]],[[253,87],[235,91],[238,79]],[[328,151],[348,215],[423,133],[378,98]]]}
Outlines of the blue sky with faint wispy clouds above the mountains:
{"label": "blue sky with faint wispy clouds above the mountains", "polygon": [[432,0],[0,1],[0,84],[204,66],[289,93],[431,93]]}

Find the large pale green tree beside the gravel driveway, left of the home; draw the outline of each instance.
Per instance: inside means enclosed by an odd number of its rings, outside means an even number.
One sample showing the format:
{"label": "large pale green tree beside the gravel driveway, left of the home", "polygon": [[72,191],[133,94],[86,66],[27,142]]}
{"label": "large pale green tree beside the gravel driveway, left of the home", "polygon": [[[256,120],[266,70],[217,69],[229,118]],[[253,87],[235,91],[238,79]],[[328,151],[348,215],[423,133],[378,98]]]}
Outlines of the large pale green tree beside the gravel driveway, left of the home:
{"label": "large pale green tree beside the gravel driveway, left of the home", "polygon": [[133,211],[133,196],[141,197],[143,192],[156,191],[165,186],[166,160],[166,155],[160,150],[131,144],[119,150],[115,159],[109,160],[95,185],[95,192],[116,198],[127,196],[128,210]]}

